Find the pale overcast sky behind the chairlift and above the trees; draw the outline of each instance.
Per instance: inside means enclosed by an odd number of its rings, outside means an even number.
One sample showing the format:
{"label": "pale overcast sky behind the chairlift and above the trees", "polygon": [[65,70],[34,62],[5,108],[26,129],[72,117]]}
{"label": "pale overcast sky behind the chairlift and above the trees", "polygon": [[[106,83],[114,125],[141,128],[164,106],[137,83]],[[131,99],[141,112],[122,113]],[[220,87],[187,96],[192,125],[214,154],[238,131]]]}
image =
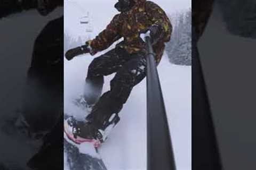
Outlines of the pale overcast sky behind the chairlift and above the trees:
{"label": "pale overcast sky behind the chairlift and above the trees", "polygon": [[[151,0],[161,6],[166,13],[177,12],[191,7],[191,0]],[[79,23],[80,18],[90,12],[93,26],[92,36],[106,27],[113,16],[118,13],[114,8],[117,0],[66,0],[64,5],[65,31],[72,35],[85,33],[83,25]]]}

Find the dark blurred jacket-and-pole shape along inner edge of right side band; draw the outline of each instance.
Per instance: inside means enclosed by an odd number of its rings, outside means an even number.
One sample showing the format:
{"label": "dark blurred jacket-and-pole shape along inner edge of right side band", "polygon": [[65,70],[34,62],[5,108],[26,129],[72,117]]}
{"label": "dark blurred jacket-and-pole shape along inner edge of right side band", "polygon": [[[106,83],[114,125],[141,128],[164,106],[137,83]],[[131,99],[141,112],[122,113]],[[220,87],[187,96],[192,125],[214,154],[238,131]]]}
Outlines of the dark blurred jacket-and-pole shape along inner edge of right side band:
{"label": "dark blurred jacket-and-pole shape along inner edge of right side band", "polygon": [[192,168],[221,170],[221,159],[214,131],[197,42],[212,12],[213,0],[193,1],[192,5]]}

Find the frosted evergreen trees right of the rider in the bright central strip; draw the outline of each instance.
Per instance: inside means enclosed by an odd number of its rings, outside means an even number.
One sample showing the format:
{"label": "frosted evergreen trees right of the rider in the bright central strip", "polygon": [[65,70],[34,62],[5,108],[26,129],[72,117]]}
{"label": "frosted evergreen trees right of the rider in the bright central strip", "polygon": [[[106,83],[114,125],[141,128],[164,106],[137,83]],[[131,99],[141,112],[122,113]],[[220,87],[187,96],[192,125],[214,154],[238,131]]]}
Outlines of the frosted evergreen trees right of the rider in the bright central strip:
{"label": "frosted evergreen trees right of the rider in the bright central strip", "polygon": [[166,52],[173,64],[191,65],[191,9],[169,15],[173,32]]}

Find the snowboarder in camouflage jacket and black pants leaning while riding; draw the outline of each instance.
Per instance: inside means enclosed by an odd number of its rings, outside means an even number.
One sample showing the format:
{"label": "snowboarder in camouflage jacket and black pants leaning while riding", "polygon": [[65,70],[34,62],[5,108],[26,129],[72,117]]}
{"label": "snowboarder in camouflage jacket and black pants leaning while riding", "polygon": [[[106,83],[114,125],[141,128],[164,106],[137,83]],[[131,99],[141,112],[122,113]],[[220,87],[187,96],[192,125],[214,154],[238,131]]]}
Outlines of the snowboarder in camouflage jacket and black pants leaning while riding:
{"label": "snowboarder in camouflage jacket and black pants leaning while riding", "polygon": [[[107,49],[118,39],[114,49],[95,58],[88,69],[83,98],[92,106],[85,121],[73,117],[64,123],[68,140],[81,144],[91,142],[97,148],[104,142],[113,126],[119,121],[118,113],[126,103],[132,88],[146,77],[147,49],[145,36],[150,35],[158,64],[165,44],[171,38],[172,25],[157,4],[146,0],[118,0],[115,8],[120,12],[97,37],[85,45],[70,49],[67,60],[90,53],[95,55]],[[101,97],[103,76],[116,73],[110,90]]]}

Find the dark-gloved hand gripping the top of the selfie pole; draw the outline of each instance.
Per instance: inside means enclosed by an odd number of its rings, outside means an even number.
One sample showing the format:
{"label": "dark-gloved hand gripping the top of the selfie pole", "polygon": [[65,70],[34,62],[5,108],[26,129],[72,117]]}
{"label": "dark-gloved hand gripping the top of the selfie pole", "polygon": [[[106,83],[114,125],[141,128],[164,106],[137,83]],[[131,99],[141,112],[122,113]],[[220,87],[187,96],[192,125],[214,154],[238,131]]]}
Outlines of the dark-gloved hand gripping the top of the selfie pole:
{"label": "dark-gloved hand gripping the top of the selfie pole", "polygon": [[146,37],[150,36],[151,44],[154,45],[162,36],[162,30],[158,25],[151,25],[148,29],[141,31],[140,38],[146,43]]}

